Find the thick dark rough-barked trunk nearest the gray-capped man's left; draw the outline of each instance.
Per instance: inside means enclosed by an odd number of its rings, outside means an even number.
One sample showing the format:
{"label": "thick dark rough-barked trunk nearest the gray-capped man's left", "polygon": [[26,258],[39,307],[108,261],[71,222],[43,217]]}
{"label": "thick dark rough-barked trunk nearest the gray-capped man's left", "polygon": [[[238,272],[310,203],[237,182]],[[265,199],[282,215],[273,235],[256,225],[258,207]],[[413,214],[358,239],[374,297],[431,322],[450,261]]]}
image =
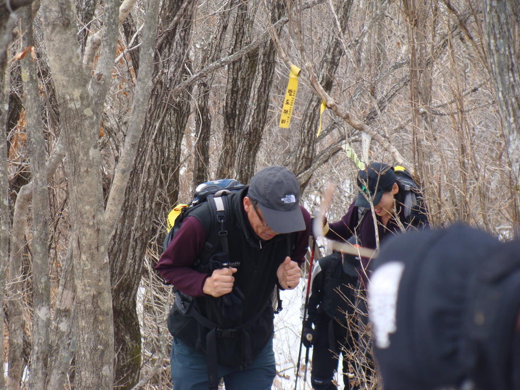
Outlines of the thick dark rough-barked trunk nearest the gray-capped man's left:
{"label": "thick dark rough-barked trunk nearest the gray-capped man's left", "polygon": [[[183,79],[186,71],[194,5],[195,2],[186,0],[163,3],[159,34],[163,34],[164,39],[156,48],[159,57],[154,61],[156,67],[152,79],[155,83],[122,213],[109,246],[115,386],[122,389],[132,388],[139,380],[141,334],[136,295],[153,219],[161,209],[161,203],[154,199],[159,196],[160,189],[166,187],[166,175],[177,183],[172,190],[175,199],[178,193],[176,167],[180,161],[180,144],[189,115],[189,102],[185,94],[180,95],[177,101],[170,100],[170,91]],[[174,20],[178,22],[172,24]],[[145,53],[141,50],[141,55]],[[140,73],[143,72],[141,64]]]}

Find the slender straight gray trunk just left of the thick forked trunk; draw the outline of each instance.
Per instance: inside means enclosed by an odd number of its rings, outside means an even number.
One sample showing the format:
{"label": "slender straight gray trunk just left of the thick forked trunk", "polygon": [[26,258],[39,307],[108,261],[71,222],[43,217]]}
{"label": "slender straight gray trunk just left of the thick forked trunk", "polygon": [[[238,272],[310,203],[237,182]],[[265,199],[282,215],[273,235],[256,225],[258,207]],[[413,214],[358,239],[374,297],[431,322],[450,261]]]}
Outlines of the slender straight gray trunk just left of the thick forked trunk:
{"label": "slender straight gray trunk just left of the thick forked trunk", "polygon": [[[20,25],[24,31],[24,47],[34,46],[32,22],[32,9],[31,7],[26,7],[20,18]],[[40,390],[45,387],[49,354],[49,193],[47,190],[46,152],[40,94],[38,92],[36,66],[31,56],[26,56],[23,59],[21,68],[33,190],[32,277],[34,281],[37,281],[33,283],[33,328],[31,333],[32,350],[29,389]]]}

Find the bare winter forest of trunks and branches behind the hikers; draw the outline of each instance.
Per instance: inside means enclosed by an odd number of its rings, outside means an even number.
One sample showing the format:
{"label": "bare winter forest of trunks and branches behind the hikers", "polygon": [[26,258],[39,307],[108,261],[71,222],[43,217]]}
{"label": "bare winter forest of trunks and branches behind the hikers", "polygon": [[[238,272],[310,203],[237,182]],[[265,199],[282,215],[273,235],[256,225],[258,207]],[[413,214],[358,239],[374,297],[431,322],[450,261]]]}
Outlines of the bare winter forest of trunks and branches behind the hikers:
{"label": "bare winter forest of trunks and branches behind the hikers", "polygon": [[519,29],[516,0],[0,0],[0,390],[170,388],[153,266],[209,179],[284,165],[337,220],[350,146],[434,226],[515,236]]}

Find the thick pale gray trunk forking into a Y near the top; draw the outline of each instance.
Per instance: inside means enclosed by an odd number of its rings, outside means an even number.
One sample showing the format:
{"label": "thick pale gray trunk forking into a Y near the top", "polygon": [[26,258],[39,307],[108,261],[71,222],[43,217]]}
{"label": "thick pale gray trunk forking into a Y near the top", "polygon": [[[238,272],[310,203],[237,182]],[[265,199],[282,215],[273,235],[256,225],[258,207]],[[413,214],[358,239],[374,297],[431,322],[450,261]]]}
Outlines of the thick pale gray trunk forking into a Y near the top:
{"label": "thick pale gray trunk forking into a Y near the top", "polygon": [[112,299],[98,137],[117,42],[118,5],[116,1],[105,2],[103,43],[92,79],[79,55],[74,2],[46,1],[42,5],[69,174],[77,388],[113,386]]}

